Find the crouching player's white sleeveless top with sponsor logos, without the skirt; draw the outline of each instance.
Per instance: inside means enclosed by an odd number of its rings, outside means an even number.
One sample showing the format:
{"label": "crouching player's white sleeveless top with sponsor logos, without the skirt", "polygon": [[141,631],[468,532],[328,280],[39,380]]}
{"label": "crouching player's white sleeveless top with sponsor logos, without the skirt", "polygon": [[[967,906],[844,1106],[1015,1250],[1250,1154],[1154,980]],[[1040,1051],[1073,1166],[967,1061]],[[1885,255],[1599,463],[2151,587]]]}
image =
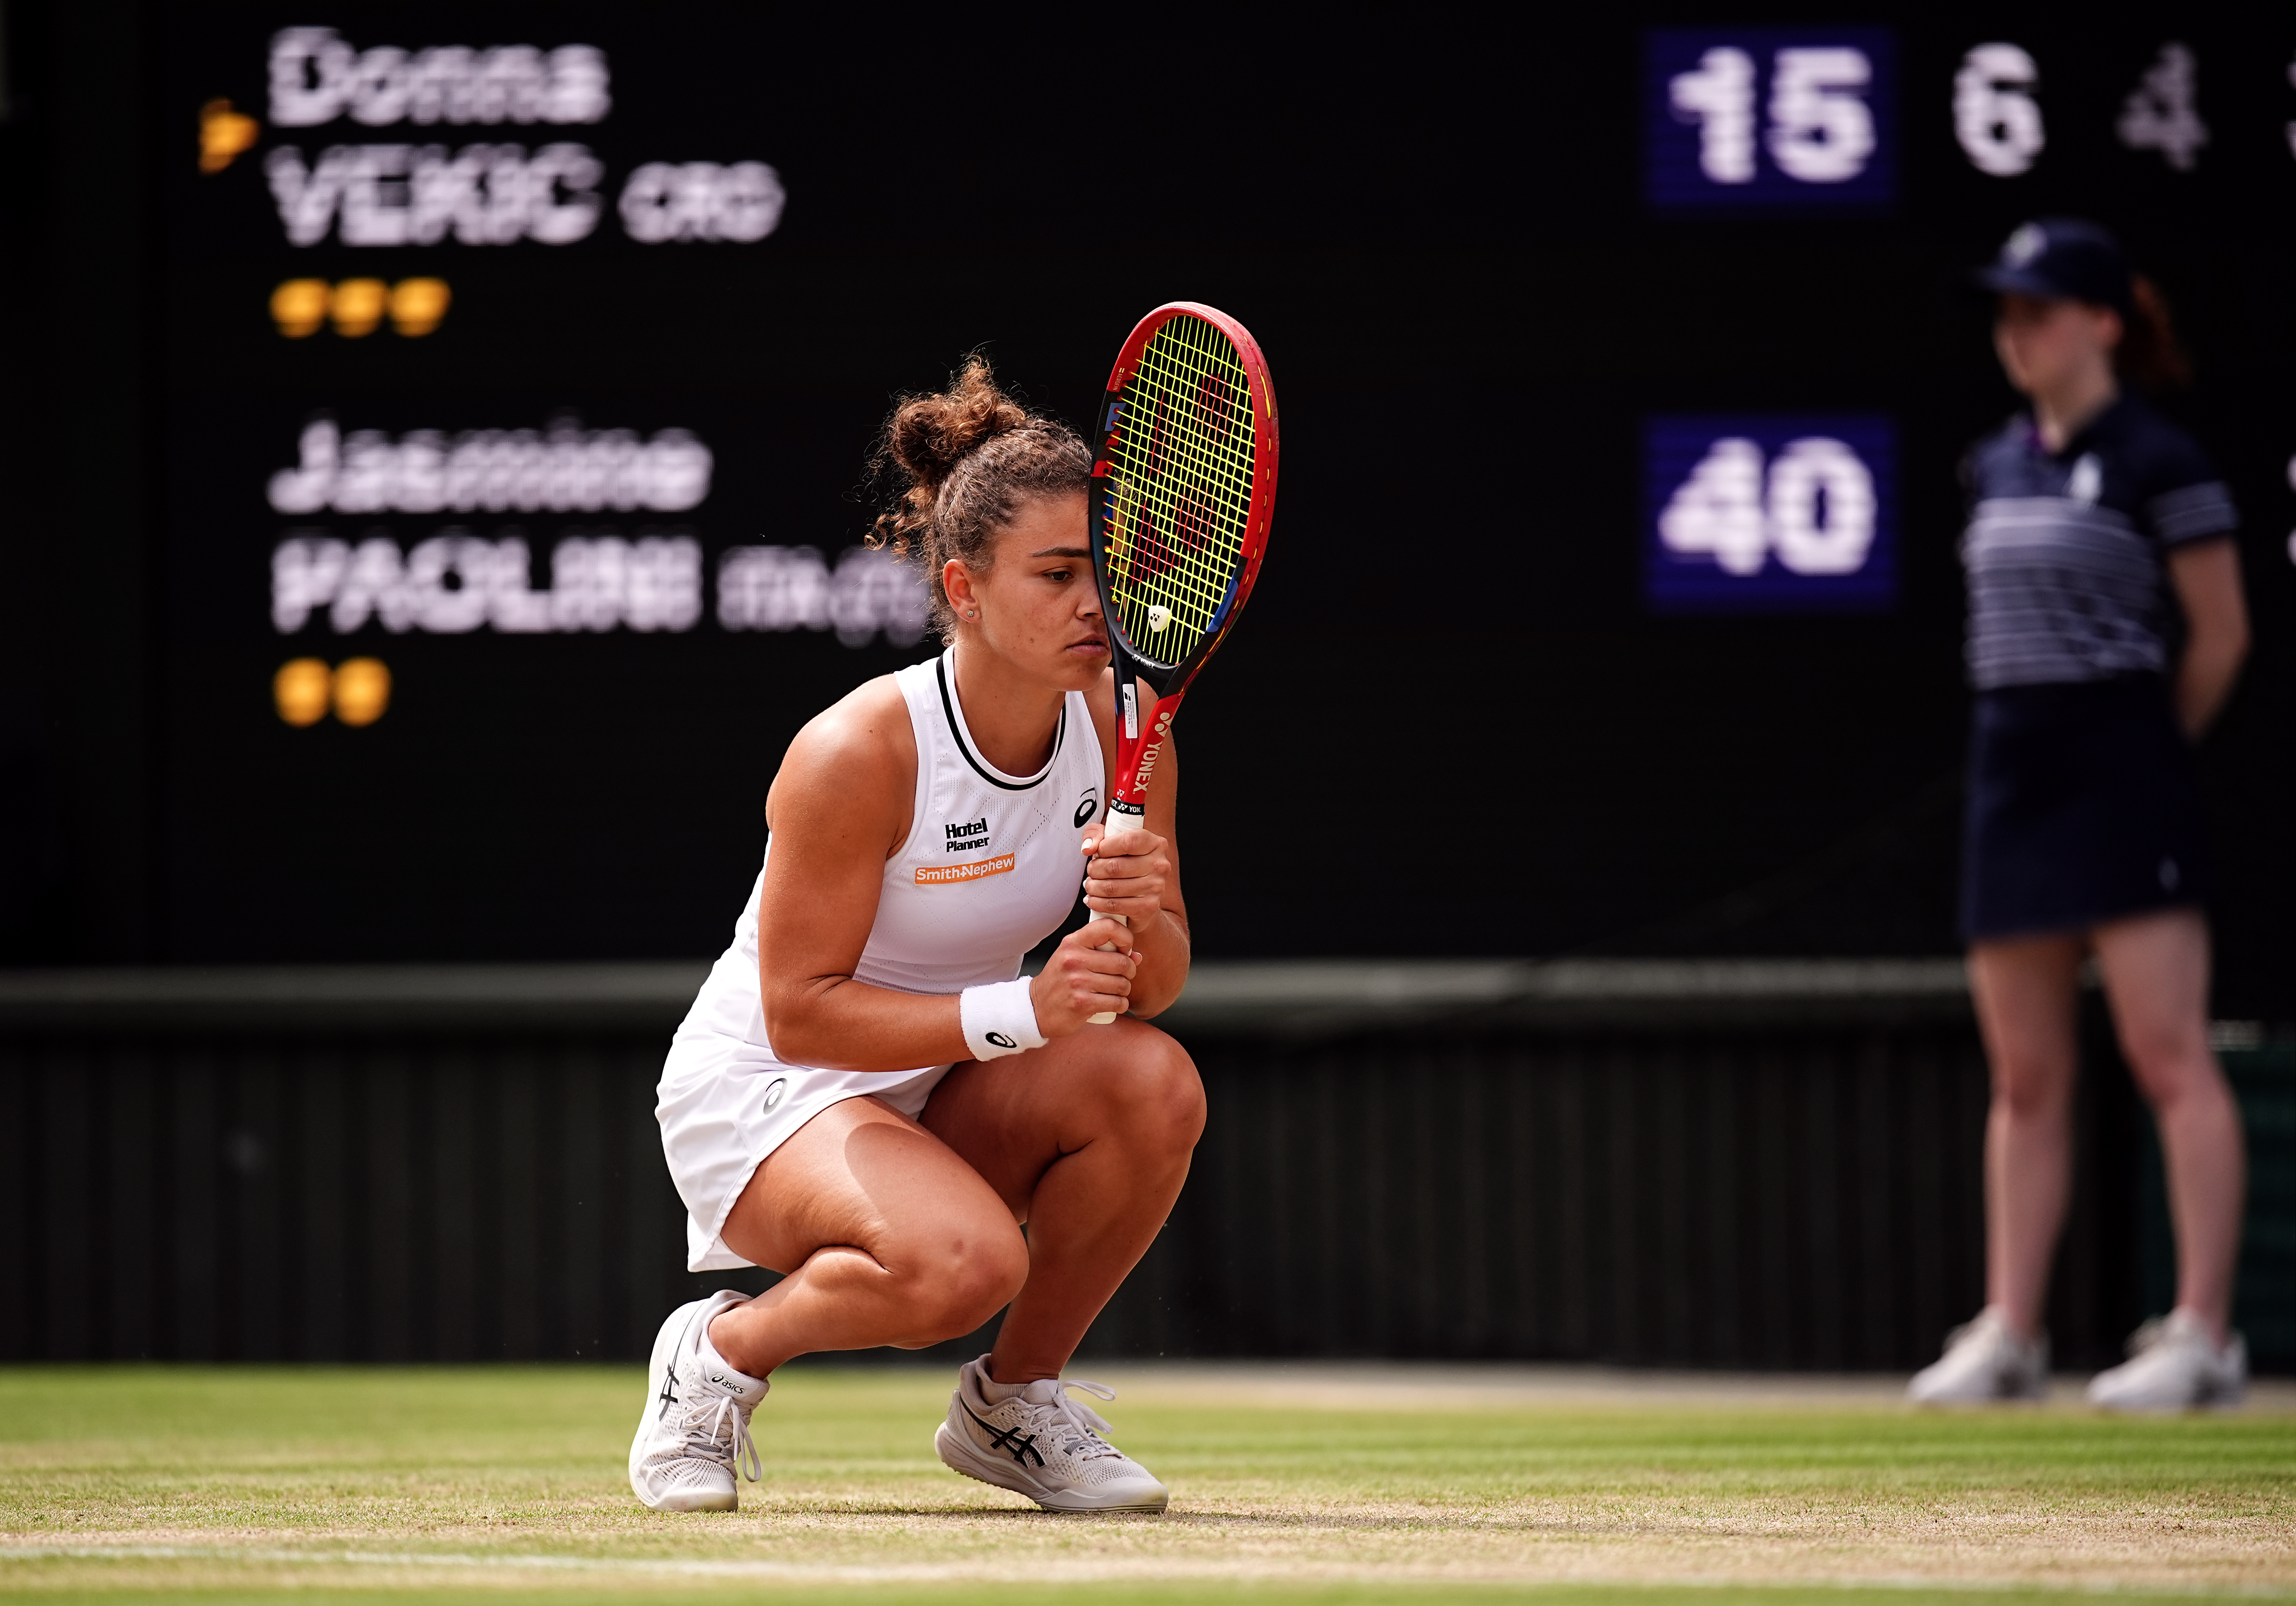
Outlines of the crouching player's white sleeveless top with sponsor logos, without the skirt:
{"label": "crouching player's white sleeveless top with sponsor logos, without the skirt", "polygon": [[[974,744],[957,703],[955,648],[893,675],[916,733],[916,804],[909,836],[884,862],[877,921],[854,981],[895,993],[962,993],[1010,981],[1029,949],[1058,931],[1084,882],[1084,827],[1100,816],[1100,735],[1081,692],[1061,708],[1052,758],[1029,777],[996,770]],[[767,839],[765,862],[774,862]],[[751,887],[732,944],[687,1013],[680,1036],[709,1032],[774,1055],[758,999],[758,896]],[[918,1071],[861,1073],[905,1082]],[[859,1091],[868,1091],[866,1087]]]}

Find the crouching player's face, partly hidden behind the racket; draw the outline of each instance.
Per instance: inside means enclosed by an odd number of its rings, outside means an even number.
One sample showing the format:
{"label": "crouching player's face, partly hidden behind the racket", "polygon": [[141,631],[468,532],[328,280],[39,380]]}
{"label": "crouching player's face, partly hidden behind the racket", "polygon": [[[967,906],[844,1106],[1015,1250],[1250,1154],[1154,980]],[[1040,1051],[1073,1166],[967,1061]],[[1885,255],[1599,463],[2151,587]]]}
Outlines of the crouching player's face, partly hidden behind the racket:
{"label": "crouching player's face, partly hidden behind the racket", "polygon": [[996,538],[996,561],[967,581],[980,613],[969,627],[999,657],[1070,692],[1100,685],[1109,632],[1093,586],[1084,492],[1022,503]]}

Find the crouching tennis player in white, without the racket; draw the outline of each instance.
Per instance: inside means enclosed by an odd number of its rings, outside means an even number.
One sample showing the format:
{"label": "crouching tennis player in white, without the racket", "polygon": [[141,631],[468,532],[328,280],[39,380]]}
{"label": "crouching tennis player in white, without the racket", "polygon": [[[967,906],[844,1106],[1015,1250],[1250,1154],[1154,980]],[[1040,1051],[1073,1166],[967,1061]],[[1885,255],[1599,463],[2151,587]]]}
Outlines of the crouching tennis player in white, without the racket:
{"label": "crouching tennis player in white, without the racket", "polygon": [[[790,744],[758,889],[670,1045],[687,1264],[785,1275],[661,1323],[629,1482],[654,1510],[732,1510],[774,1367],[921,1349],[1010,1305],[957,1369],[941,1461],[1054,1512],[1159,1512],[1164,1484],[1061,1367],[1203,1130],[1196,1066],[1141,1020],[1187,981],[1178,774],[1166,747],[1146,829],[1102,839],[1116,735],[1081,441],[976,358],[893,411],[886,450],[912,485],[877,538],[923,563],[948,650]],[[1079,880],[1097,919],[1019,979]]]}

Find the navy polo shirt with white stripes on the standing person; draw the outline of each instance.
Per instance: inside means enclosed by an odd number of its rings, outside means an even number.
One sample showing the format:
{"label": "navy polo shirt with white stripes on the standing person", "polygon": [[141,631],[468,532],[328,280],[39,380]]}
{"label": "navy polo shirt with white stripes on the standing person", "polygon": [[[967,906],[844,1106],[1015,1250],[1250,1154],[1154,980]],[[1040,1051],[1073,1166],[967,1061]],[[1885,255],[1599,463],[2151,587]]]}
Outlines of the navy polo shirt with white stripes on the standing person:
{"label": "navy polo shirt with white stripes on the standing person", "polygon": [[2183,430],[2133,395],[2050,453],[2016,416],[1961,464],[1970,682],[2158,675],[2183,630],[2165,554],[2229,535],[2232,494]]}

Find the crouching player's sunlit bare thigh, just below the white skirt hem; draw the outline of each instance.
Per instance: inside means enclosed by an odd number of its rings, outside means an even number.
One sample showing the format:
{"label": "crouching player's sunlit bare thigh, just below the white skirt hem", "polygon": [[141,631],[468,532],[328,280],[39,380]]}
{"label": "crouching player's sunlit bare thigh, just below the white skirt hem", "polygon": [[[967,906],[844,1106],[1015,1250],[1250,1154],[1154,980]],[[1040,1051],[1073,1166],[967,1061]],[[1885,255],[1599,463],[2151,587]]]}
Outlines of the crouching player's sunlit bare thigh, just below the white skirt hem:
{"label": "crouching player's sunlit bare thigh, just below the white skirt hem", "polygon": [[790,1273],[824,1245],[898,1266],[1015,1229],[948,1144],[877,1098],[845,1098],[758,1165],[721,1236],[742,1259]]}

